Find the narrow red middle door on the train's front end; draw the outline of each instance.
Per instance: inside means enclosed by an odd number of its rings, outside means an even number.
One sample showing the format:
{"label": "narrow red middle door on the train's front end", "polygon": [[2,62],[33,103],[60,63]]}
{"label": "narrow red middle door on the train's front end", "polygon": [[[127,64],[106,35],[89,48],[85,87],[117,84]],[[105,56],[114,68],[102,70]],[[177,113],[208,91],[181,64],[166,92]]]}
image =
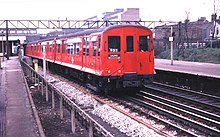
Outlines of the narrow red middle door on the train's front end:
{"label": "narrow red middle door on the train's front end", "polygon": [[123,35],[123,44],[125,45],[124,48],[124,70],[128,73],[137,73],[137,60],[135,51],[135,36],[134,34]]}

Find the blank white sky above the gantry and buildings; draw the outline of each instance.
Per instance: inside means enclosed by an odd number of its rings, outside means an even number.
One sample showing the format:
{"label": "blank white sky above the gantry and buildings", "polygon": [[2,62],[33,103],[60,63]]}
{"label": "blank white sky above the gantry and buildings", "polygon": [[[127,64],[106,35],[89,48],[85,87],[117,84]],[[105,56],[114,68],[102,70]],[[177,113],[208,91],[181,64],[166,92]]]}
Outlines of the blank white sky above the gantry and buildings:
{"label": "blank white sky above the gantry and buildings", "polygon": [[[216,1],[217,14],[220,0]],[[0,0],[0,20],[86,19],[116,8],[140,8],[144,21],[210,21],[214,0]],[[2,12],[3,11],[3,12]]]}

